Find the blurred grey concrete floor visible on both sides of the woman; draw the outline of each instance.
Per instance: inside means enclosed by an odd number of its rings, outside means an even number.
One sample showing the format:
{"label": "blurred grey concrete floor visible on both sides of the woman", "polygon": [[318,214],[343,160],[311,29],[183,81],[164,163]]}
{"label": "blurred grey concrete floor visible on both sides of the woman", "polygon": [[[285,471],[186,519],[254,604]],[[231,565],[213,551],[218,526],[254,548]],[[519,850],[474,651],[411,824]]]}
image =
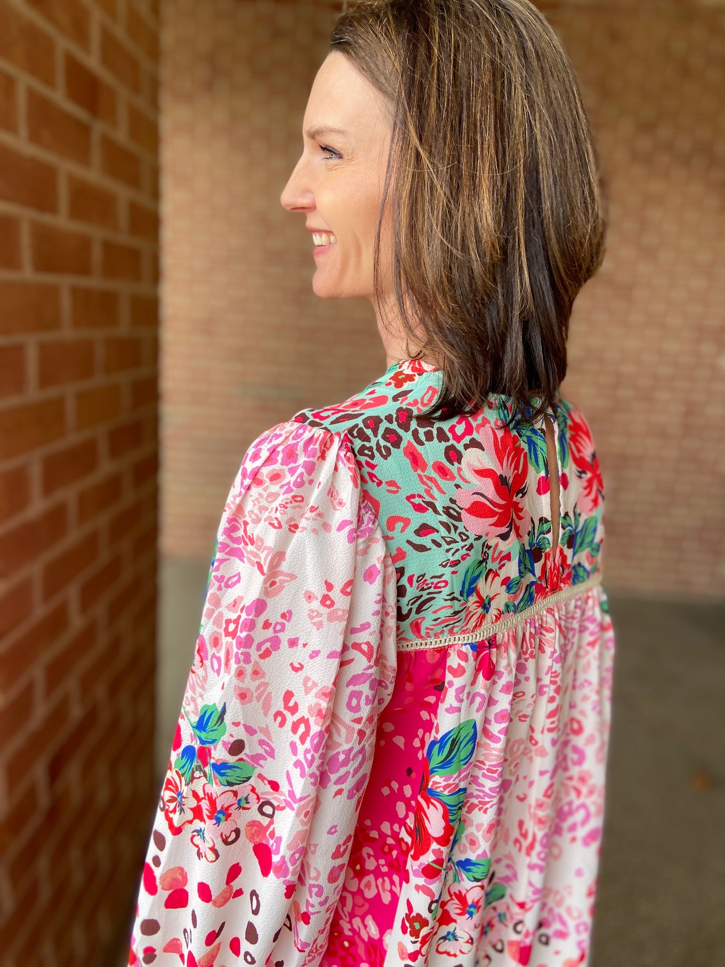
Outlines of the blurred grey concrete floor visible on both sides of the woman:
{"label": "blurred grey concrete floor visible on both sides of the woman", "polygon": [[[160,571],[159,783],[208,573],[188,561]],[[617,658],[589,967],[725,965],[725,604],[609,600]],[[105,965],[127,962],[120,948]]]}

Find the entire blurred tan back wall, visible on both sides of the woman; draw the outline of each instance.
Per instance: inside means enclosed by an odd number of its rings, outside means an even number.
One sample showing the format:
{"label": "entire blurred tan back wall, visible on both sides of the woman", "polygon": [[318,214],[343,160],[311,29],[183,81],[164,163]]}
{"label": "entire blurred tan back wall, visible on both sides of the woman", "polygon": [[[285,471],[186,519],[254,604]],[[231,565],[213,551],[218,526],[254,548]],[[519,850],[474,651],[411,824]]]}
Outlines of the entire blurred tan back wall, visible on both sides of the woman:
{"label": "entire blurred tan back wall, visible on both sides of the woman", "polygon": [[[607,583],[721,597],[722,2],[541,6],[581,75],[611,199],[563,388],[603,467]],[[201,560],[251,439],[385,363],[368,303],[312,293],[304,219],[278,200],[333,9],[165,9],[161,547]]]}

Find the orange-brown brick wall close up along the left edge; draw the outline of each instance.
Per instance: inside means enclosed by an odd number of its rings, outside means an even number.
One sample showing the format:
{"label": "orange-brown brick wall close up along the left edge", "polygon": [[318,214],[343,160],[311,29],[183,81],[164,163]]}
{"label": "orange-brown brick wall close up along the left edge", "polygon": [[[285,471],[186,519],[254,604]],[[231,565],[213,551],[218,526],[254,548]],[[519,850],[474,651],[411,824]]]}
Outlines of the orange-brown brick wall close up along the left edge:
{"label": "orange-brown brick wall close up along the left edge", "polygon": [[101,961],[155,806],[158,22],[0,0],[7,967]]}

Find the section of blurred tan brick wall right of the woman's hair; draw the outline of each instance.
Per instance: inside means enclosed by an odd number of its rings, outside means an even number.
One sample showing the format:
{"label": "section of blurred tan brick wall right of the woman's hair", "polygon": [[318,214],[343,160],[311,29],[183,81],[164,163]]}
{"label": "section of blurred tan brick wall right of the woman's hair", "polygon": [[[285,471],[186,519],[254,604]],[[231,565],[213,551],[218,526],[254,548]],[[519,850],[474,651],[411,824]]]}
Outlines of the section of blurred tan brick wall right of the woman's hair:
{"label": "section of blurred tan brick wall right of the woman's hair", "polygon": [[[545,5],[542,5],[545,6]],[[725,593],[725,3],[559,4],[610,196],[563,392],[607,490],[611,587]]]}

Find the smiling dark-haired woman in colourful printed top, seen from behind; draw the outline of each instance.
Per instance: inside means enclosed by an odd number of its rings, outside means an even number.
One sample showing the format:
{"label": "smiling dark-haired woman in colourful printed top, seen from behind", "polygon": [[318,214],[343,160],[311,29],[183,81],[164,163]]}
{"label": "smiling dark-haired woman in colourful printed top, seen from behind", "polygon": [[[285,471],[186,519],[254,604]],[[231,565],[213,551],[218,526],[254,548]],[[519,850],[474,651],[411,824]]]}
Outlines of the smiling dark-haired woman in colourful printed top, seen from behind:
{"label": "smiling dark-haired woman in colourful printed top, seen from behind", "polygon": [[281,202],[388,369],[242,460],[130,962],[583,964],[614,640],[559,392],[603,245],[574,74],[527,0],[364,2],[303,130]]}

